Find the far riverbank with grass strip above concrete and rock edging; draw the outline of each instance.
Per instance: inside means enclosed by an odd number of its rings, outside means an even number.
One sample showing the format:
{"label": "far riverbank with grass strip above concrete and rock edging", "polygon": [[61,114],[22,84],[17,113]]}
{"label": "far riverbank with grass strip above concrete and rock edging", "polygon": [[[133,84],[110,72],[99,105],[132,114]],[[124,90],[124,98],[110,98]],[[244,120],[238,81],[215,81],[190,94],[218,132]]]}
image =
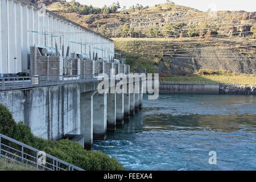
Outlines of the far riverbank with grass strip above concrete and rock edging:
{"label": "far riverbank with grass strip above concrete and rock edging", "polygon": [[256,94],[256,75],[201,69],[193,75],[159,77],[159,93]]}

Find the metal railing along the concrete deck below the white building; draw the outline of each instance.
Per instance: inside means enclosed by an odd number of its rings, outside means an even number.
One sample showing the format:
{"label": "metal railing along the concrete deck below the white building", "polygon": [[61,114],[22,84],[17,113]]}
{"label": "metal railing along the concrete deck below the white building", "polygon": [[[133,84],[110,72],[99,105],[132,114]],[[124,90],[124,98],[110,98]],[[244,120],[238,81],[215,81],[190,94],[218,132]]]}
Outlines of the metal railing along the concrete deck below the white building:
{"label": "metal railing along the concrete deck below the white building", "polygon": [[0,77],[0,90],[73,84],[97,80],[97,75]]}

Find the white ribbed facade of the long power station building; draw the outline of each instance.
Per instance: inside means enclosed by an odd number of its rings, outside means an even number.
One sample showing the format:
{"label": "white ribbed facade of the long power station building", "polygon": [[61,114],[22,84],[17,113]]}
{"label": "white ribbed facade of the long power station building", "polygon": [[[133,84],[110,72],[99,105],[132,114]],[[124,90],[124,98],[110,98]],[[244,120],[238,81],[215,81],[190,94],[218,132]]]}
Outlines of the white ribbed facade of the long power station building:
{"label": "white ribbed facade of the long power station building", "polygon": [[114,56],[114,42],[27,0],[0,0],[0,76],[30,73],[30,46],[55,47],[62,55]]}

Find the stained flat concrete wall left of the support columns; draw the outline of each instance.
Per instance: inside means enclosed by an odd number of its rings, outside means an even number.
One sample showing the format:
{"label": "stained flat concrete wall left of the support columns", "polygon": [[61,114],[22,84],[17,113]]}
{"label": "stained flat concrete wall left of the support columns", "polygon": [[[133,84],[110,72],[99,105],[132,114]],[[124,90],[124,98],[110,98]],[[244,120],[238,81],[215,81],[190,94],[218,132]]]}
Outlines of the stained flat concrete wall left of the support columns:
{"label": "stained flat concrete wall left of the support columns", "polygon": [[80,86],[69,84],[0,92],[1,104],[44,139],[80,134]]}

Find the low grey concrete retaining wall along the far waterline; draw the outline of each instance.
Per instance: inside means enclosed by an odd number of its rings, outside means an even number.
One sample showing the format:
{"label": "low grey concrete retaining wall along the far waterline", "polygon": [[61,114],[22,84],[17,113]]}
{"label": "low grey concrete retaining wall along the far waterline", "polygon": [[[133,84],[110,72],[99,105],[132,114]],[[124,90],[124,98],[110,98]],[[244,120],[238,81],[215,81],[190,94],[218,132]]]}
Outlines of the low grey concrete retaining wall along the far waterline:
{"label": "low grey concrete retaining wall along the far waterline", "polygon": [[218,94],[219,84],[160,82],[159,93],[213,93]]}

